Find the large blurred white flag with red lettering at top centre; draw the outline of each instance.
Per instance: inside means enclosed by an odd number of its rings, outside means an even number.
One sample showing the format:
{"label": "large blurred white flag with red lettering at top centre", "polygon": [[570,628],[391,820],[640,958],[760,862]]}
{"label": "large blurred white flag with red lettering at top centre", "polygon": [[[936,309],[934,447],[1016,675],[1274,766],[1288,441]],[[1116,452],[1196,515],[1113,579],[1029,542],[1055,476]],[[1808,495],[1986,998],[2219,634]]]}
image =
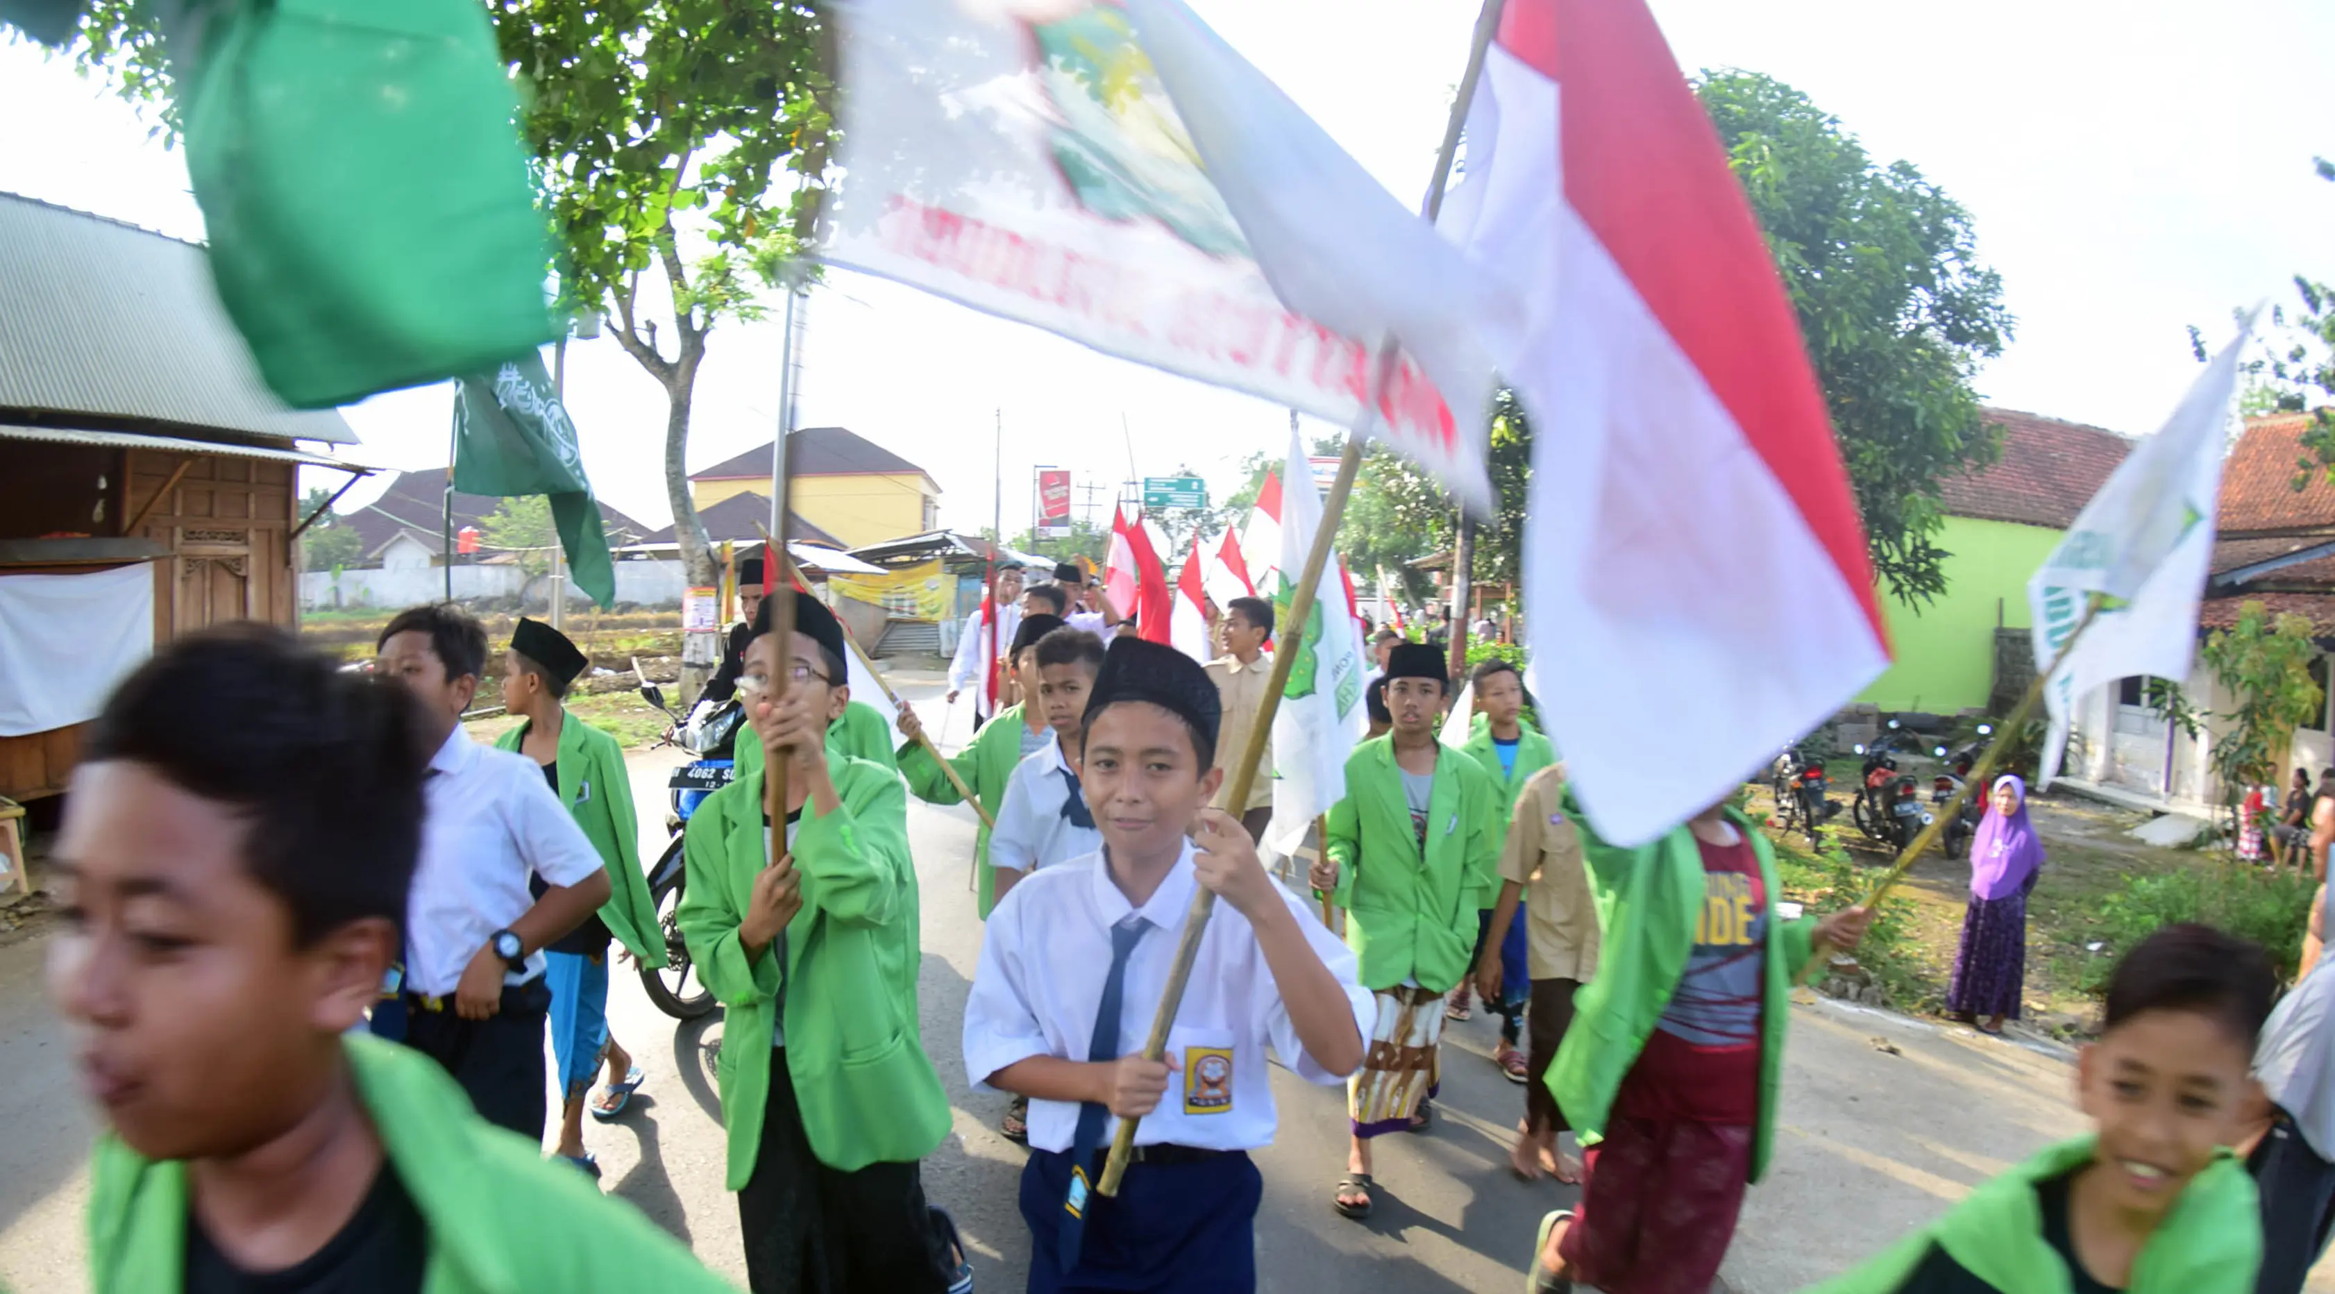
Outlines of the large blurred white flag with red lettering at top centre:
{"label": "large blurred white flag with red lettering at top centre", "polygon": [[[1522,311],[1182,0],[841,0],[820,257],[1368,434],[1487,509]],[[1378,353],[1401,355],[1385,385]],[[1378,418],[1364,418],[1375,404]]]}

